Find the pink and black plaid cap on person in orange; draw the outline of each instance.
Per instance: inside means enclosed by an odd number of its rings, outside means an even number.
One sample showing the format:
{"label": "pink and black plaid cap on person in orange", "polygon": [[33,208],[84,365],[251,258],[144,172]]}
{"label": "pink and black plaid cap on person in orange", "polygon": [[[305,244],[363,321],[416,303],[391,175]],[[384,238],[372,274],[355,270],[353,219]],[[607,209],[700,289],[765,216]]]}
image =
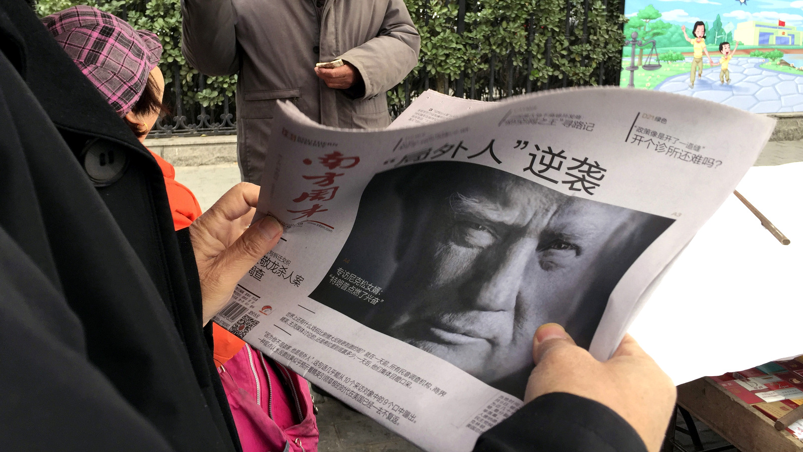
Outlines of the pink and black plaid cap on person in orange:
{"label": "pink and black plaid cap on person in orange", "polygon": [[42,22],[117,114],[130,112],[161,58],[157,35],[134,30],[123,19],[84,5],[51,14]]}

